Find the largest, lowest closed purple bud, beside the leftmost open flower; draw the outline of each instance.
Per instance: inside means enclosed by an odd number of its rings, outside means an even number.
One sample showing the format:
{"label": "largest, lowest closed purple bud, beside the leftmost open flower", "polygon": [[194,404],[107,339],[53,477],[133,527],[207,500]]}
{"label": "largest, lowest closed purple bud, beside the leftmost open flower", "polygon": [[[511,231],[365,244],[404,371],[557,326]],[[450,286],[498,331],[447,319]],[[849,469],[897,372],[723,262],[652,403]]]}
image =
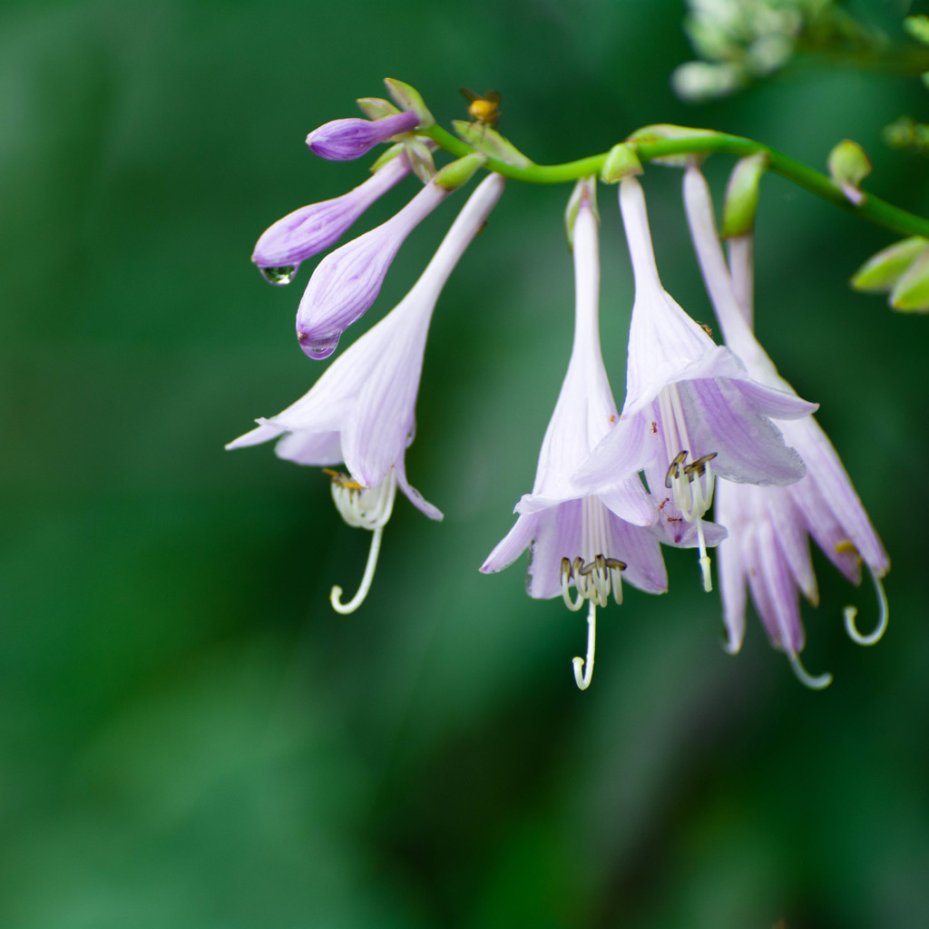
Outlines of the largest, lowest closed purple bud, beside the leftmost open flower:
{"label": "largest, lowest closed purple bud, beside the leftmost open flower", "polygon": [[430,181],[386,223],[326,255],[300,301],[296,334],[314,359],[328,358],[339,336],[371,307],[400,245],[451,191]]}

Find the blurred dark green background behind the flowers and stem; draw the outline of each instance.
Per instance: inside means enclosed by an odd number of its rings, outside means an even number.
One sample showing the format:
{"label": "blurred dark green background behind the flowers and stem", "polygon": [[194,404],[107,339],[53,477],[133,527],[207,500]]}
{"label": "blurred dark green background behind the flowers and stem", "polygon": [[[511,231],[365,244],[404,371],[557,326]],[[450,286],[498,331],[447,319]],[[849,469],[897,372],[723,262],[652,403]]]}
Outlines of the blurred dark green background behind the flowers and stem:
{"label": "blurred dark green background behind the flowers and stem", "polygon": [[[897,29],[903,3],[857,7]],[[125,927],[909,927],[929,924],[929,636],[921,484],[929,321],[846,281],[893,235],[766,177],[757,327],[830,433],[893,558],[876,616],[817,556],[811,693],[753,615],[737,658],[693,553],[669,595],[584,623],[478,566],[512,525],[567,367],[564,189],[511,184],[437,310],[414,486],[373,593],[368,536],[327,479],[223,444],[323,365],[255,239],[363,164],[304,145],[385,76],[438,119],[503,92],[540,163],[640,124],[708,125],[822,166],[856,139],[870,190],[929,213],[927,163],[884,124],[918,79],[801,62],[676,100],[692,57],[662,0],[471,5],[151,0],[0,7],[0,924]],[[895,26],[895,22],[897,25]],[[718,163],[718,164],[717,164]],[[731,166],[708,171],[717,192]],[[645,178],[668,289],[712,321],[680,175]],[[365,216],[399,208],[411,181]],[[632,298],[603,190],[603,344],[622,397]],[[455,207],[404,246],[357,336],[415,280]],[[921,490],[922,488],[922,490]]]}

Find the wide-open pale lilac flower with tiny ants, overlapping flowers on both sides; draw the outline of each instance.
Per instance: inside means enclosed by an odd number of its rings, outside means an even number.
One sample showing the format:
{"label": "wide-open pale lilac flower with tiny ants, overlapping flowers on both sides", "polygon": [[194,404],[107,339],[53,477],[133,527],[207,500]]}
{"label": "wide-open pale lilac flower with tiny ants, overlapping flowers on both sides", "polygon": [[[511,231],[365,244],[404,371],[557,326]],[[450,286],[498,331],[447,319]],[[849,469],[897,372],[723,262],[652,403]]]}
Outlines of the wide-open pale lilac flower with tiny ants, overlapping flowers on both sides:
{"label": "wide-open pale lilac flower with tiny ants, overlapping flowers on both sides", "polygon": [[[703,587],[712,589],[703,517],[714,478],[791,484],[800,456],[771,419],[805,416],[816,405],[759,384],[726,347],[717,346],[661,286],[648,231],[645,195],[635,177],[620,185],[622,221],[635,272],[622,415],[578,471],[591,490],[645,473],[665,520],[692,523]],[[613,507],[635,519],[621,499]]]}

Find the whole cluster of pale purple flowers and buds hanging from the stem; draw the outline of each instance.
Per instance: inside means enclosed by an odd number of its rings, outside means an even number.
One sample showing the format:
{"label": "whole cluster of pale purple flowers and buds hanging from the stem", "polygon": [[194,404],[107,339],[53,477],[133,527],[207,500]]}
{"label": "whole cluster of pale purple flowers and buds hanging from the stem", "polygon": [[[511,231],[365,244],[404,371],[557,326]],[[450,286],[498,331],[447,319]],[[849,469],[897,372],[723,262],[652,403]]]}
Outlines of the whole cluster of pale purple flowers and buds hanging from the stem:
{"label": "whole cluster of pale purple flowers and buds hanging from the stem", "polygon": [[[275,223],[253,260],[269,281],[289,283],[300,264],[334,243],[386,190],[414,175],[421,190],[386,223],[324,257],[311,275],[296,317],[297,340],[312,359],[331,355],[341,335],[373,305],[395,255],[413,229],[463,187],[487,157],[470,153],[437,170],[431,116],[412,88],[388,82],[386,100],[360,101],[370,120],[337,120],[310,133],[324,158],[359,157],[381,142],[393,146],[373,176],[347,194],[305,206]],[[490,126],[463,131],[496,154],[514,152]],[[475,147],[479,147],[476,143]],[[618,147],[623,148],[623,147]],[[502,156],[500,153],[504,153]],[[871,644],[886,625],[881,578],[887,556],[829,439],[812,418],[817,405],[779,377],[752,334],[751,235],[723,255],[706,182],[694,164],[685,173],[685,204],[708,293],[725,335],[717,345],[661,284],[648,227],[641,167],[628,150],[605,169],[619,181],[622,222],[635,274],[625,397],[618,409],[599,337],[599,214],[596,178],[578,180],[567,214],[575,276],[574,340],[555,411],[543,437],[532,491],[516,505],[513,528],[480,570],[506,568],[530,552],[530,596],[561,596],[567,608],[587,607],[587,649],[573,660],[577,686],[590,685],[596,609],[622,583],[661,594],[668,576],[661,545],[697,551],[700,580],[713,590],[709,554],[718,550],[729,651],[744,635],[746,585],[775,648],[785,651],[805,684],[822,687],[799,654],[804,648],[799,594],[816,602],[807,536],[857,583],[870,569],[882,615],[861,635],[854,608],[849,634]],[[503,170],[501,168],[501,170]],[[406,449],[415,433],[415,404],[429,322],[438,296],[468,244],[483,229],[504,190],[489,171],[438,246],[412,290],[383,320],[348,347],[309,392],[227,448],[278,439],[276,451],[297,464],[321,467],[349,525],[372,532],[358,593],[347,603],[334,587],[333,607],[358,608],[373,581],[383,531],[397,489],[425,516],[438,509],[410,485]],[[344,464],[346,472],[334,470]],[[718,483],[718,488],[717,488]],[[715,521],[710,519],[714,495]]]}

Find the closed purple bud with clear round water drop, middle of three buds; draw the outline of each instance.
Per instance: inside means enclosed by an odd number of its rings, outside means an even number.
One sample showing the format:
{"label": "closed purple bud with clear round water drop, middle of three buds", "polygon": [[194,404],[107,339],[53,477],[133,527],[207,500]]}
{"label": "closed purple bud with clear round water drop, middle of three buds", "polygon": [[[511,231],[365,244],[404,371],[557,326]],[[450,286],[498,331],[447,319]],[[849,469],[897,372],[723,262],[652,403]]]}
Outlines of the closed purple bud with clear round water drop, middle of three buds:
{"label": "closed purple bud with clear round water drop, middle of three buds", "polygon": [[363,184],[341,197],[310,203],[279,219],[262,233],[252,260],[272,283],[290,283],[300,262],[334,245],[374,201],[410,173],[402,152]]}

